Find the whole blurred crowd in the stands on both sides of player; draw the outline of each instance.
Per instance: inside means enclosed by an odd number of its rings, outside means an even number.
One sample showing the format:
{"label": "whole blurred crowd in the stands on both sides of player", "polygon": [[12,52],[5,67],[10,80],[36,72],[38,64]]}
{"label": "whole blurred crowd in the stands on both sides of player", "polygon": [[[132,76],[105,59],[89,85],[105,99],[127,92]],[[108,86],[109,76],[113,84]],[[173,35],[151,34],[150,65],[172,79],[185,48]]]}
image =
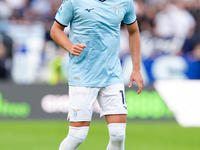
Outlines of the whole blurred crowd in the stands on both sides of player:
{"label": "whole blurred crowd in the stands on both sides of player", "polygon": [[[67,80],[67,52],[49,35],[61,3],[0,0],[0,79],[19,84]],[[167,53],[200,61],[199,0],[134,0],[134,5],[143,59]],[[69,29],[65,32],[68,34]],[[120,58],[128,51],[127,31],[122,23]],[[31,65],[34,71],[27,71]]]}

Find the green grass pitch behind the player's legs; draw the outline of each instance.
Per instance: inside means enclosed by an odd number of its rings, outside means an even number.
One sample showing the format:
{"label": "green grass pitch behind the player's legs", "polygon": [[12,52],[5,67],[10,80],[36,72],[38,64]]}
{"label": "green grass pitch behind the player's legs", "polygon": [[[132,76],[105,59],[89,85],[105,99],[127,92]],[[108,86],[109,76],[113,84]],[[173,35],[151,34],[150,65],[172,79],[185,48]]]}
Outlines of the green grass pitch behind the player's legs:
{"label": "green grass pitch behind the player's legs", "polygon": [[[63,120],[1,120],[0,150],[58,150],[66,137]],[[109,140],[105,121],[91,122],[78,150],[105,150]],[[126,150],[200,150],[200,128],[183,128],[175,121],[128,121]]]}

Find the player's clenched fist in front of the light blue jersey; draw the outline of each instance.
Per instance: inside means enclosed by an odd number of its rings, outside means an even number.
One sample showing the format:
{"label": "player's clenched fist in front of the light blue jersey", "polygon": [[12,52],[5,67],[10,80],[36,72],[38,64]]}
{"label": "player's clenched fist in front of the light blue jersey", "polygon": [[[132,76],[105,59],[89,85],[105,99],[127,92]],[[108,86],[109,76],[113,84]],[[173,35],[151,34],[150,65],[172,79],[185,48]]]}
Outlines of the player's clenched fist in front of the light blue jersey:
{"label": "player's clenched fist in front of the light blue jersey", "polygon": [[76,43],[71,47],[69,52],[71,55],[80,56],[84,48],[86,48],[85,43]]}

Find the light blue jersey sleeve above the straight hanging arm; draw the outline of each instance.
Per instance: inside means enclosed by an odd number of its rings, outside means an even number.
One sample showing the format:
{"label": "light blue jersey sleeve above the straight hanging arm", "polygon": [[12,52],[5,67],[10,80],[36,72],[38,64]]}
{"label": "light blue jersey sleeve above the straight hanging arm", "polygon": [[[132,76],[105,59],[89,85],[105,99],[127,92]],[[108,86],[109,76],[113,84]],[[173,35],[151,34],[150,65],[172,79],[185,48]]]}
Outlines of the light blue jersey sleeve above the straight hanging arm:
{"label": "light blue jersey sleeve above the straight hanging arm", "polygon": [[136,15],[135,15],[135,10],[134,10],[133,0],[128,0],[127,11],[124,16],[123,22],[125,24],[132,24],[135,21],[136,21]]}

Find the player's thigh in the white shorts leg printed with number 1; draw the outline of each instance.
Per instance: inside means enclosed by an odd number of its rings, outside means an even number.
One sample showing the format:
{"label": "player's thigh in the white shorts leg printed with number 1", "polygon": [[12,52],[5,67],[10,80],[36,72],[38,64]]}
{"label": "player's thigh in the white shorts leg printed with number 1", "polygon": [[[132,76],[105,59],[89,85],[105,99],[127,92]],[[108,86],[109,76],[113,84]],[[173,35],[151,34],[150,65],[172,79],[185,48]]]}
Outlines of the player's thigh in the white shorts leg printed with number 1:
{"label": "player's thigh in the white shorts leg printed with number 1", "polygon": [[118,121],[126,118],[128,112],[123,83],[113,84],[102,88],[99,91],[97,100],[101,107],[101,116],[107,116],[106,118],[116,118]]}

